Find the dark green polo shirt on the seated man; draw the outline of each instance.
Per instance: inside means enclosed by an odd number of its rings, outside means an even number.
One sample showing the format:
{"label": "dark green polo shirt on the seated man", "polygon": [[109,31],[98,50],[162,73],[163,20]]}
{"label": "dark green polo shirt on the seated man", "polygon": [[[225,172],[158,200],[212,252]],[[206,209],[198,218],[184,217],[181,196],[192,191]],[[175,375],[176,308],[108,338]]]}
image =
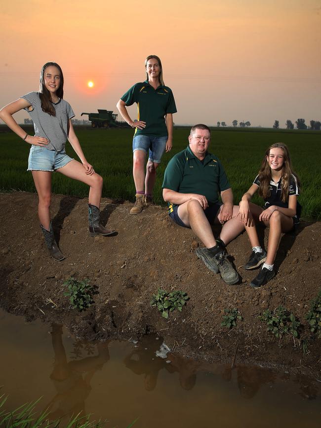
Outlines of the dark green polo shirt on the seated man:
{"label": "dark green polo shirt on the seated man", "polygon": [[[163,189],[204,195],[208,203],[218,202],[219,194],[230,187],[219,159],[206,152],[201,161],[189,146],[170,159],[162,184]],[[175,204],[168,202],[168,206],[172,212]]]}

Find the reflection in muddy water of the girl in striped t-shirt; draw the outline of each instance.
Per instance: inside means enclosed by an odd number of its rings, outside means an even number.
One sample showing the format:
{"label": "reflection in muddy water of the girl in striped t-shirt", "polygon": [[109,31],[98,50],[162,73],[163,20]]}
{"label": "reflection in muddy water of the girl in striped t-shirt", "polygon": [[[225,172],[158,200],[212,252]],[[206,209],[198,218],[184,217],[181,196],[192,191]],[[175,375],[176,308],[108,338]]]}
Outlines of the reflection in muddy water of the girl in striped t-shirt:
{"label": "reflection in muddy water of the girl in striped t-shirt", "polygon": [[[108,344],[92,344],[76,341],[72,359],[68,361],[66,351],[62,342],[63,326],[53,324],[51,331],[52,347],[55,355],[55,362],[50,379],[57,391],[57,394],[47,404],[49,418],[55,420],[65,415],[82,415],[87,413],[85,400],[91,391],[90,381],[97,370],[101,370],[103,365],[109,361]],[[93,354],[97,347],[98,355],[81,356],[82,350],[87,354]]]}

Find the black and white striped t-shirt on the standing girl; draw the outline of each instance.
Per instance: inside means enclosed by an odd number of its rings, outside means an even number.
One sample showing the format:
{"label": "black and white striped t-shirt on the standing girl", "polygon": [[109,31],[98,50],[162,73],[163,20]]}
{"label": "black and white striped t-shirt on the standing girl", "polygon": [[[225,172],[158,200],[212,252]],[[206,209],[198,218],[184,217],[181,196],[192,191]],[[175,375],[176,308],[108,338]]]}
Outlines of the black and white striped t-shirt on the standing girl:
{"label": "black and white striped t-shirt on the standing girl", "polygon": [[34,122],[35,135],[47,138],[49,143],[46,149],[60,152],[65,147],[68,138],[67,129],[69,119],[75,117],[70,104],[62,99],[57,103],[52,103],[56,110],[56,116],[54,117],[42,111],[39,92],[30,92],[20,98],[28,101],[33,107],[32,110],[28,110],[28,107],[24,110],[28,112]]}

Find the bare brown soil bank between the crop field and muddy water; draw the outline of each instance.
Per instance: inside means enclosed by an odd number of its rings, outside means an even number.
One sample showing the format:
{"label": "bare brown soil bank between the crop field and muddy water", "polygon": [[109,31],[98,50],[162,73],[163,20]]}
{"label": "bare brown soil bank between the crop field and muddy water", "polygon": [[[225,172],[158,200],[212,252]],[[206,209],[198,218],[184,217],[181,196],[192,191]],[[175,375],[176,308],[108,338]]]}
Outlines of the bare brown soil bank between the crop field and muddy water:
{"label": "bare brown soil bank between the crop field and muddy water", "polygon": [[[169,219],[166,209],[151,206],[131,216],[131,204],[103,199],[101,217],[117,234],[90,238],[87,200],[53,195],[53,225],[66,259],[50,258],[40,233],[38,197],[29,193],[0,195],[0,306],[27,319],[65,324],[77,337],[105,341],[139,339],[157,333],[181,354],[235,363],[254,363],[321,378],[321,341],[309,332],[304,315],[320,287],[321,223],[302,222],[296,233],[282,236],[277,275],[260,290],[249,283],[256,272],[242,267],[250,254],[246,233],[228,245],[241,280],[226,285],[195,255],[201,245],[191,230]],[[261,230],[267,246],[267,231]],[[86,311],[70,308],[64,281],[89,278],[97,286],[95,303]],[[169,320],[150,300],[158,288],[183,290],[190,300]],[[50,300],[53,303],[50,303]],[[301,340],[276,339],[259,315],[279,305],[302,322]],[[243,316],[237,327],[221,326],[225,308]],[[176,313],[177,312],[177,313]]]}

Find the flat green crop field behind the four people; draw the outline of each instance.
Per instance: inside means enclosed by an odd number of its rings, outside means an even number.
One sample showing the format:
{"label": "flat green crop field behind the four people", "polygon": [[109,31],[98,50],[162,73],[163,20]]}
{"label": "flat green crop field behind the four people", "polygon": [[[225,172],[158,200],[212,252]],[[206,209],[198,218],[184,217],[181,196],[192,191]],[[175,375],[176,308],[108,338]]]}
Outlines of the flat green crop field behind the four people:
{"label": "flat green crop field behind the four people", "polygon": [[[32,129],[24,127],[32,134]],[[35,192],[32,175],[27,172],[30,146],[13,132],[0,127],[0,189]],[[104,178],[103,196],[134,199],[132,179],[132,129],[91,129],[78,127],[76,133],[88,162]],[[169,159],[187,146],[189,128],[174,129],[173,149],[165,154],[158,169],[154,200],[164,205],[161,184],[164,168]],[[285,143],[290,150],[292,163],[301,179],[300,203],[302,217],[321,220],[321,132],[286,131],[274,129],[222,129],[213,128],[209,151],[222,161],[238,203],[243,193],[251,186],[266,148],[276,142]],[[73,150],[67,143],[70,156]],[[70,180],[61,174],[53,174],[52,189],[56,194],[88,195],[86,185]],[[256,203],[262,201],[256,197]]]}

